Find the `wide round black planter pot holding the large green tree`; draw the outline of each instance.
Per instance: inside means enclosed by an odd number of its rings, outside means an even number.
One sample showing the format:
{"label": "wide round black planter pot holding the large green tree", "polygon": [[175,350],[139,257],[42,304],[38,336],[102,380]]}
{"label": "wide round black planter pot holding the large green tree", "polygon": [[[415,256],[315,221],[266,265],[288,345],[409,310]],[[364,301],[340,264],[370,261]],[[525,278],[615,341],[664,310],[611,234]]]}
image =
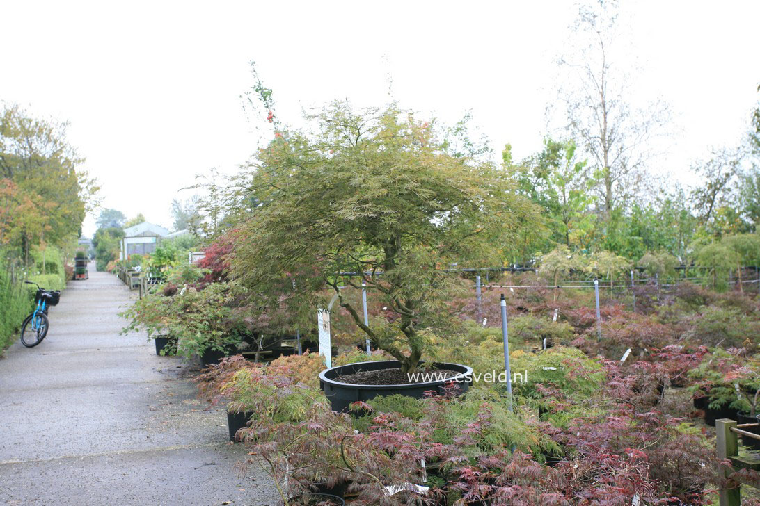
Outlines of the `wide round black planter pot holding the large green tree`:
{"label": "wide round black planter pot holding the large green tree", "polygon": [[460,373],[453,378],[437,382],[407,383],[402,385],[352,385],[336,380],[339,376],[353,374],[354,372],[399,369],[401,367],[401,364],[395,360],[360,362],[325,369],[319,373],[319,385],[325,391],[325,396],[330,401],[332,409],[342,413],[346,413],[349,410],[349,405],[352,402],[369,401],[378,395],[400,394],[421,399],[425,397],[426,391],[432,390],[439,394],[444,393],[444,387],[452,383],[458,385],[461,393],[470,388],[472,384],[472,367],[462,366],[458,363],[435,363],[435,366],[439,369],[451,369]]}

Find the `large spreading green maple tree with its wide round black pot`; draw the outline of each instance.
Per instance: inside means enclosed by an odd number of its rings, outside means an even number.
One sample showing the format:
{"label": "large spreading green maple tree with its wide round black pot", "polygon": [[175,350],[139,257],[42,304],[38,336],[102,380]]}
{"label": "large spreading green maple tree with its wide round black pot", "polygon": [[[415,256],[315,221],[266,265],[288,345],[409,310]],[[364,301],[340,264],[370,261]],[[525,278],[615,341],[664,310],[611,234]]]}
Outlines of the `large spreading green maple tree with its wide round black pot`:
{"label": "large spreading green maple tree with its wide round black pot", "polygon": [[[323,372],[325,393],[342,410],[348,394],[340,392],[358,392],[356,385],[363,398],[419,391],[394,378],[426,363],[430,333],[458,332],[447,302],[467,287],[451,265],[496,259],[498,244],[537,215],[502,171],[454,149],[469,142],[454,140],[466,129],[442,135],[394,107],[355,112],[344,103],[316,120],[315,137],[278,130],[260,150],[245,191],[253,188],[262,205],[236,229],[230,272],[263,294],[258,306],[302,315],[301,328],[313,325],[315,308],[327,308],[333,295],[372,346],[395,359]],[[365,324],[344,287],[366,288],[384,312]],[[375,379],[360,382],[361,372]],[[351,382],[341,382],[347,374]]]}

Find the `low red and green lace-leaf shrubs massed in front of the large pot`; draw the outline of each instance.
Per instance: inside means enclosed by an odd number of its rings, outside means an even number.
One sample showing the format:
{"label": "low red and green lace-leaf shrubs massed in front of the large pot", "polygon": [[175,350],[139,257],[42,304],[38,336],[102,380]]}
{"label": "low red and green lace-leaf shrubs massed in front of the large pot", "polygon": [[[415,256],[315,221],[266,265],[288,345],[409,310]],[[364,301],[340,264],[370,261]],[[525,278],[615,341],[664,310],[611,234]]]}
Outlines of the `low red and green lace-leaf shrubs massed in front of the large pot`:
{"label": "low red and green lace-leaf shrubs massed in front of the large pot", "polygon": [[[521,358],[553,369],[542,366],[537,382],[518,390],[514,412],[499,388],[476,385],[462,396],[380,396],[338,413],[314,384],[321,360],[313,354],[269,366],[232,357],[199,384],[227,395],[231,415],[245,413],[248,426],[237,437],[264,459],[286,504],[317,490],[401,504],[420,499],[418,486],[429,487],[426,504],[545,504],[576,494],[616,504],[631,494],[657,500],[660,480],[667,494],[698,501],[717,482],[701,465],[711,458],[701,434],[652,411],[656,397],[624,381],[628,372],[594,360],[579,365],[576,351],[562,348],[515,354]],[[618,401],[610,403],[613,393]],[[637,438],[646,450],[633,449]],[[680,462],[669,454],[674,448]],[[664,460],[653,470],[648,459],[656,456]],[[515,483],[523,484],[519,492]]]}

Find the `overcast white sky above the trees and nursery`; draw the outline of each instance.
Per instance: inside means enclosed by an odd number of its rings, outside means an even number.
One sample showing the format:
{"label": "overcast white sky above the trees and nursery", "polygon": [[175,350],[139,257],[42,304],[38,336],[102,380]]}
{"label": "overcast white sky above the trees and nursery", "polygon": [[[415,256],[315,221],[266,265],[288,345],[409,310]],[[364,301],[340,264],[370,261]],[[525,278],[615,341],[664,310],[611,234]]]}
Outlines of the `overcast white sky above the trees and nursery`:
{"label": "overcast white sky above the trees and nursery", "polygon": [[[169,204],[211,167],[234,171],[266,134],[239,96],[258,62],[280,118],[349,98],[443,121],[471,109],[498,154],[540,149],[554,58],[574,2],[0,3],[0,99],[71,121],[103,206],[171,228]],[[758,100],[760,2],[626,0],[632,101],[662,96],[673,137],[658,170],[689,182],[710,146],[735,145]],[[88,217],[84,234],[91,235]]]}

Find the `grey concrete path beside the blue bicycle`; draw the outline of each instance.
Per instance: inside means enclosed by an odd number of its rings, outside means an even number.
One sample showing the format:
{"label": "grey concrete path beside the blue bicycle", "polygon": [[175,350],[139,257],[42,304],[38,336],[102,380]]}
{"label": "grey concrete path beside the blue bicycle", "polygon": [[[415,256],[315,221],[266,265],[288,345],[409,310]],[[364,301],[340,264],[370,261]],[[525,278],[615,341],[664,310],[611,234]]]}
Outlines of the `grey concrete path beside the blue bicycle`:
{"label": "grey concrete path beside the blue bicycle", "polygon": [[34,348],[0,359],[0,504],[279,504],[228,440],[223,407],[196,398],[195,363],[120,336],[135,299],[114,275],[70,281]]}

